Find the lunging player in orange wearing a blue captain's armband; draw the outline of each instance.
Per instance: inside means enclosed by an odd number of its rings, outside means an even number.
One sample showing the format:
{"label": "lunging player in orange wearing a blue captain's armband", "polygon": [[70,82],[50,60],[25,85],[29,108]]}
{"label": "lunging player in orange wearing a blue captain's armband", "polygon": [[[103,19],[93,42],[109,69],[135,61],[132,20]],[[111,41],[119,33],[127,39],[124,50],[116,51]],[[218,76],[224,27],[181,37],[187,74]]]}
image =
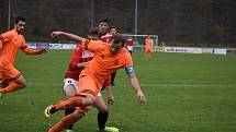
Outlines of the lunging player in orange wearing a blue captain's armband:
{"label": "lunging player in orange wearing a blue captain's armband", "polygon": [[[60,34],[66,36],[71,35],[63,32]],[[80,107],[83,112],[87,113],[90,106],[94,104],[95,97],[101,91],[104,81],[110,76],[110,73],[123,68],[136,92],[139,103],[145,103],[146,97],[143,94],[135,75],[131,55],[124,49],[125,40],[122,35],[114,35],[110,44],[104,44],[99,40],[89,40],[81,37],[77,37],[77,39],[82,41],[82,47],[93,52],[94,57],[90,64],[88,64],[80,73],[79,88],[77,89],[76,96],[48,106],[45,109],[45,116],[47,118],[58,110],[75,107]],[[75,123],[78,119],[76,112],[68,115],[52,127],[48,132],[59,132],[66,127]]]}

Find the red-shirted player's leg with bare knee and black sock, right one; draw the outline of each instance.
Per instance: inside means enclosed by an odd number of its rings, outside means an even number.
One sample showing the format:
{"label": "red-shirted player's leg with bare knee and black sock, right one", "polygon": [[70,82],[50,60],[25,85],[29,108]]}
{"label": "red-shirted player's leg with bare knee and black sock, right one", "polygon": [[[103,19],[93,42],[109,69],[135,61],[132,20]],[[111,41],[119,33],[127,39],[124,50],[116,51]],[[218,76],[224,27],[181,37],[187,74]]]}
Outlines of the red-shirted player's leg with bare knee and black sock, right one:
{"label": "red-shirted player's leg with bare knee and black sock, right one", "polygon": [[104,130],[105,122],[108,121],[108,118],[109,118],[109,108],[105,105],[105,101],[104,101],[101,93],[99,93],[99,95],[97,96],[94,106],[99,110],[99,113],[98,113],[99,129]]}

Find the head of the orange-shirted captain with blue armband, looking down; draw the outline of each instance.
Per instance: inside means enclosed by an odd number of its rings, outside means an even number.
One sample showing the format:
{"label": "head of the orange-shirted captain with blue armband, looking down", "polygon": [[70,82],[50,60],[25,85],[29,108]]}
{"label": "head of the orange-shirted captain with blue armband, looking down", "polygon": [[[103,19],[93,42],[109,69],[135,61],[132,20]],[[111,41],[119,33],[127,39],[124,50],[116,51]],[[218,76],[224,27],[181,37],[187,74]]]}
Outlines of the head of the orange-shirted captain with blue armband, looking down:
{"label": "head of the orange-shirted captain with blue armband, looking down", "polygon": [[124,44],[125,44],[125,39],[124,39],[123,35],[121,35],[121,34],[113,35],[112,40],[111,40],[111,49],[110,49],[110,51],[113,55],[116,55],[124,47]]}

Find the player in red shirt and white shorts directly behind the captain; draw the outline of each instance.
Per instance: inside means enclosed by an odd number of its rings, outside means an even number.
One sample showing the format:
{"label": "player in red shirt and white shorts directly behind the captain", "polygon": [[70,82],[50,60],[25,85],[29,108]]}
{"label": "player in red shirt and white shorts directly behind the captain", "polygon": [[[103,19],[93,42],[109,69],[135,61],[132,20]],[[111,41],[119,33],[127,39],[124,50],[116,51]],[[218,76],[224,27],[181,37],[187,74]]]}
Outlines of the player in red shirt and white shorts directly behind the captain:
{"label": "player in red shirt and white shorts directly behind the captain", "polygon": [[[57,33],[58,32],[54,32],[53,34],[60,35]],[[77,40],[76,35],[68,35],[67,37],[72,40]],[[98,39],[100,39],[100,37],[101,37],[101,34],[100,34],[99,29],[95,27],[91,28],[88,33],[88,39],[98,40]],[[79,82],[78,82],[79,75],[80,75],[81,71],[85,69],[85,67],[92,60],[92,57],[93,57],[93,53],[88,50],[85,50],[82,48],[81,44],[77,45],[77,47],[74,50],[74,53],[71,56],[69,68],[65,74],[65,80],[64,80],[64,91],[65,91],[67,98],[70,98],[76,95],[77,88],[79,88]],[[112,95],[112,89],[110,86],[110,80],[108,80],[105,82],[104,86],[106,87],[108,103],[110,105],[112,105],[113,95]],[[106,120],[109,117],[109,108],[105,105],[105,101],[104,101],[101,93],[99,93],[98,97],[95,98],[94,106],[99,110],[99,113],[98,113],[99,129],[105,130],[105,131],[114,130],[115,128],[105,127],[105,123],[106,123]],[[72,112],[75,112],[75,108],[65,109],[65,116],[70,115]],[[78,111],[76,111],[76,112],[78,112]],[[85,113],[79,112],[77,116],[78,116],[78,118],[81,118],[85,116]],[[72,124],[67,127],[67,132],[72,132]]]}

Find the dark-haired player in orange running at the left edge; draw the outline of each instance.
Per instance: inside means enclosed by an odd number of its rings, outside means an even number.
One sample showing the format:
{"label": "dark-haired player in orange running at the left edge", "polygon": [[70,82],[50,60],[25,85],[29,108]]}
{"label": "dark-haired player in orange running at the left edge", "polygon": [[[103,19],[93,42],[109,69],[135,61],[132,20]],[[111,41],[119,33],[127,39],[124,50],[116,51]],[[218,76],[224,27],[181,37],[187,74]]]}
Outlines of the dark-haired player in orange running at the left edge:
{"label": "dark-haired player in orange running at the left edge", "polygon": [[0,35],[0,97],[3,95],[24,88],[26,81],[24,76],[14,68],[19,49],[26,55],[41,55],[46,49],[29,49],[22,32],[25,27],[25,19],[18,16],[14,28]]}

